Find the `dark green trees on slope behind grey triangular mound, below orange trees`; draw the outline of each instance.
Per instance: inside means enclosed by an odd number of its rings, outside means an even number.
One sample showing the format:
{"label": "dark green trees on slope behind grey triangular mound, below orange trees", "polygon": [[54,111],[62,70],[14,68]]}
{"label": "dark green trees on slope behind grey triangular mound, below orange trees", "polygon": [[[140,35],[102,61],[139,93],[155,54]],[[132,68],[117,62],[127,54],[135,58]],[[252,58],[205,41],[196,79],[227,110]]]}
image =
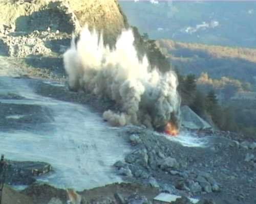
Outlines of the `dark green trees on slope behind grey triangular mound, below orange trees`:
{"label": "dark green trees on slope behind grey triangular mound, below orange trees", "polygon": [[236,104],[222,106],[214,90],[209,90],[206,94],[201,92],[197,88],[194,74],[183,76],[177,71],[177,76],[182,105],[189,106],[200,117],[220,130],[256,136],[256,127],[253,125],[253,121],[256,121],[256,107],[255,109],[251,107],[250,111],[254,110],[252,113],[255,113],[255,116],[254,119],[250,118],[251,122],[248,122],[244,115],[244,107],[238,107]]}

